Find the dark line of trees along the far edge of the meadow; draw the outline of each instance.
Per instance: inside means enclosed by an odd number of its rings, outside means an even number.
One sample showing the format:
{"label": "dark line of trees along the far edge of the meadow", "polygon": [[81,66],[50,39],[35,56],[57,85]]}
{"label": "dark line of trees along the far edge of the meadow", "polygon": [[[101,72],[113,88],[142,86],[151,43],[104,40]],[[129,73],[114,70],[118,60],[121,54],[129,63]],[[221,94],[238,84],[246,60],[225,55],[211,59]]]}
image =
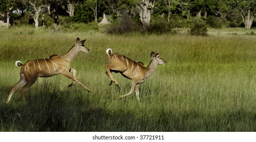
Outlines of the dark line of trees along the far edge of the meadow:
{"label": "dark line of trees along the far edge of the meadow", "polygon": [[104,13],[115,26],[109,32],[162,32],[189,27],[195,21],[213,28],[250,29],[256,16],[256,0],[0,0],[0,20],[7,27],[99,23]]}

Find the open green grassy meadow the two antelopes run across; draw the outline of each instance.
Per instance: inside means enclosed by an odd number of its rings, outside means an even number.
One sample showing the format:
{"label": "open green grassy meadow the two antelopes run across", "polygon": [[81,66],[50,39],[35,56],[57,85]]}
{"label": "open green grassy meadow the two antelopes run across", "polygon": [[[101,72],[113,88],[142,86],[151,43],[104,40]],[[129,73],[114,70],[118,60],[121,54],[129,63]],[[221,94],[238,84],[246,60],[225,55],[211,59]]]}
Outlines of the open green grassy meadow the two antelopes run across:
{"label": "open green grassy meadow the two antelopes run across", "polygon": [[[230,30],[230,29],[229,29]],[[256,131],[256,37],[241,29],[209,30],[208,37],[185,33],[106,35],[76,31],[50,33],[32,28],[0,28],[0,131]],[[65,54],[76,38],[87,39],[90,53],[79,52],[71,66],[88,86],[62,75],[39,78],[25,93],[6,99],[19,80],[22,63]],[[138,102],[131,80],[105,75],[106,49],[142,61],[151,51],[167,62],[140,85]]]}

